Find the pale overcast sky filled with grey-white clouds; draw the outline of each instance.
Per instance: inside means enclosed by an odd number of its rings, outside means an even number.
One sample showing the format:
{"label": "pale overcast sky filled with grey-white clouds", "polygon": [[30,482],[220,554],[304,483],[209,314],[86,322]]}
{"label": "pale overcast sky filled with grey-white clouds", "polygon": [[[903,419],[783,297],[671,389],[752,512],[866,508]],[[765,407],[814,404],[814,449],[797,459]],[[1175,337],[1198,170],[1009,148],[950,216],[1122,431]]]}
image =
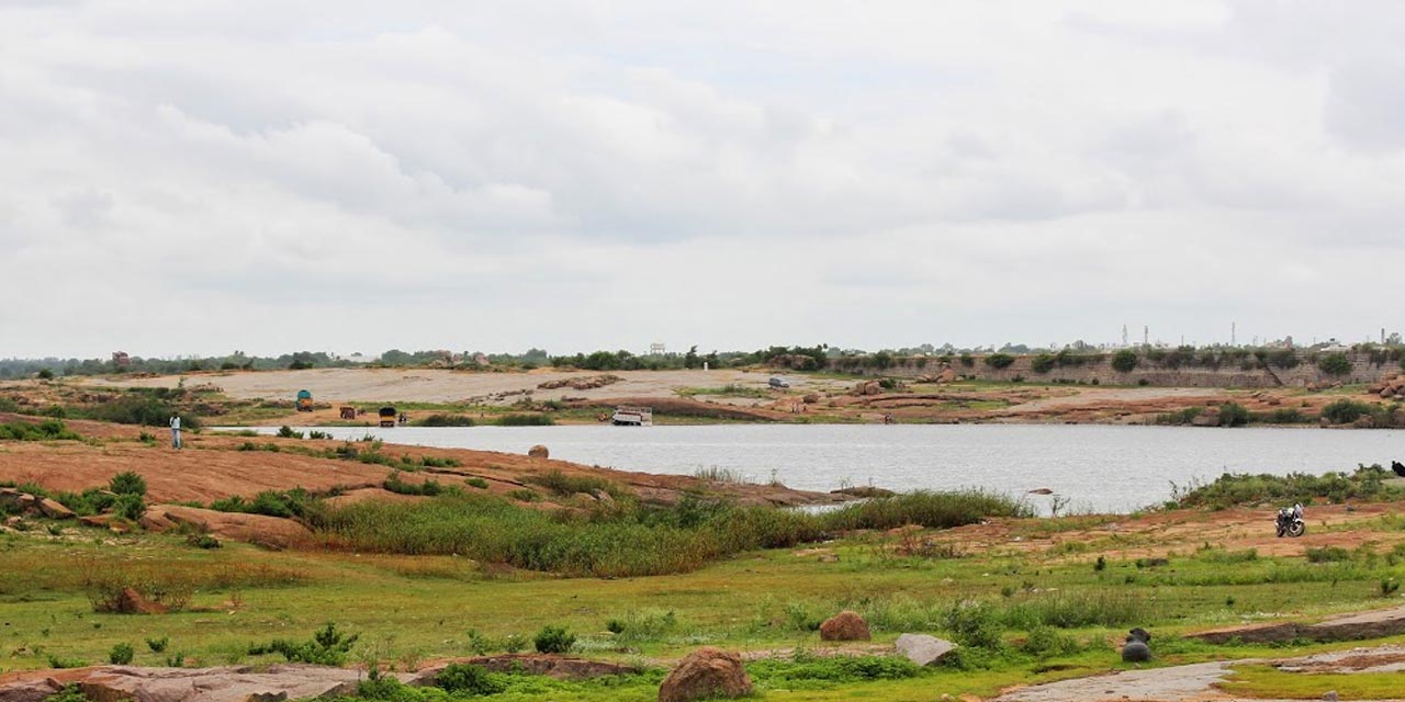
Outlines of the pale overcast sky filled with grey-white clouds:
{"label": "pale overcast sky filled with grey-white clouds", "polygon": [[1405,4],[0,0],[0,358],[1405,330]]}

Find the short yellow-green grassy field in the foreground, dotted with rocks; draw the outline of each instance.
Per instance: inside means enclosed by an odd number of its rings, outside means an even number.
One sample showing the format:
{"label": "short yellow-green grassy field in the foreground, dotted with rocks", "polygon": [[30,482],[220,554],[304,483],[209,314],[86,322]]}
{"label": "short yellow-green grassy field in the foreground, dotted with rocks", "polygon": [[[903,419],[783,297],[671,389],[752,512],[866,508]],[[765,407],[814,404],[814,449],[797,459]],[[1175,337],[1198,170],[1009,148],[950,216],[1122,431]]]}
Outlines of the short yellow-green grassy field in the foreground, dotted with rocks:
{"label": "short yellow-green grassy field in the foreground, dotted with rocks", "polygon": [[[1033,536],[1082,529],[1089,518],[1021,524]],[[1375,519],[1361,529],[1368,543],[1371,529],[1398,526]],[[1176,635],[1387,605],[1381,581],[1405,578],[1402,549],[1366,548],[1346,560],[1312,563],[1198,545],[1156,564],[1100,560],[1094,549],[961,553],[923,548],[913,534],[861,532],[818,548],[753,550],[672,576],[563,578],[462,556],[270,552],[239,543],[202,550],[183,536],[114,536],[51,522],[0,536],[3,667],[105,663],[119,643],[136,649],[138,664],[166,664],[174,654],[190,665],[271,663],[281,658],[251,656],[250,647],[306,639],[334,622],[361,635],[348,663],[403,670],[507,650],[559,625],[577,635],[577,653],[646,668],[700,644],[780,651],[750,664],[766,699],[934,699],[1118,668],[1111,642],[1131,626],[1155,632],[1156,664],[1281,654]],[[112,581],[185,594],[190,604],[162,616],[94,612],[89,594]],[[846,608],[868,619],[877,642],[930,632],[961,642],[964,654],[932,671],[891,658],[818,658],[826,647],[818,623]],[[143,643],[162,637],[170,643],[160,653]],[[660,678],[662,670],[610,682],[524,678],[502,699],[652,699]],[[1238,680],[1246,691],[1301,687],[1259,668],[1245,668]]]}

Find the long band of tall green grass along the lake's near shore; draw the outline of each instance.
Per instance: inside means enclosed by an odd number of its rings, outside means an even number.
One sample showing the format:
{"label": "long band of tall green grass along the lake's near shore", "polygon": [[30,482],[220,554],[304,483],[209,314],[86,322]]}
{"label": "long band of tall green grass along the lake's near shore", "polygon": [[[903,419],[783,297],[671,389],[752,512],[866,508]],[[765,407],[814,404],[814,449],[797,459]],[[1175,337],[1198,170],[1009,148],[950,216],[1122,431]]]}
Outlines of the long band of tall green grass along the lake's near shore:
{"label": "long band of tall green grass along the lake's near shore", "polygon": [[[555,484],[551,477],[547,482]],[[577,484],[558,487],[582,491]],[[528,570],[625,577],[684,573],[745,550],[821,541],[837,529],[954,526],[1020,514],[1028,514],[1023,503],[985,493],[913,493],[826,514],[697,498],[672,507],[627,501],[592,512],[547,512],[492,496],[444,494],[416,504],[325,508],[308,521],[330,548],[458,553]]]}

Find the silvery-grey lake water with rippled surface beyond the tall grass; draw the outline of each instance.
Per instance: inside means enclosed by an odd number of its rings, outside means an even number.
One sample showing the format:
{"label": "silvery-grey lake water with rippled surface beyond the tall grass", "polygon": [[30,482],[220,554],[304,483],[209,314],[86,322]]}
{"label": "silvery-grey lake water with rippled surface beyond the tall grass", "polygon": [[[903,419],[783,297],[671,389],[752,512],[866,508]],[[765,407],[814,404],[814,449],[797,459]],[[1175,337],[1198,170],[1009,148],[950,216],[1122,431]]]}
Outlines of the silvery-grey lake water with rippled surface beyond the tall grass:
{"label": "silvery-grey lake water with rippled surface beyond the tall grass", "polygon": [[[306,431],[306,428],[302,428]],[[805,490],[1051,489],[1073,508],[1124,512],[1159,504],[1172,483],[1224,472],[1324,473],[1405,461],[1401,430],[1110,425],[322,427],[339,439],[525,453],[622,470],[691,475],[718,468]],[[274,432],[275,428],[260,428]],[[1030,496],[1037,505],[1048,497]]]}

